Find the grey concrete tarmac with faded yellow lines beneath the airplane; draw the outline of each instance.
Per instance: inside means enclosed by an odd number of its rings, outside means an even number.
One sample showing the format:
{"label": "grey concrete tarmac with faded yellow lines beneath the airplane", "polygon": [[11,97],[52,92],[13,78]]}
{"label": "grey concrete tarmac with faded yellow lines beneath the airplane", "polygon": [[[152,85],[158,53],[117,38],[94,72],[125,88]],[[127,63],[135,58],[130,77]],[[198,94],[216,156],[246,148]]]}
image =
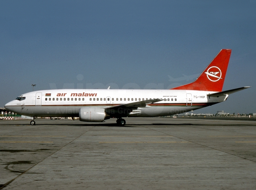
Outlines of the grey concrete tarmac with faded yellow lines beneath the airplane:
{"label": "grey concrete tarmac with faded yellow lines beneath the airplane", "polygon": [[0,189],[256,189],[256,121],[0,120]]}

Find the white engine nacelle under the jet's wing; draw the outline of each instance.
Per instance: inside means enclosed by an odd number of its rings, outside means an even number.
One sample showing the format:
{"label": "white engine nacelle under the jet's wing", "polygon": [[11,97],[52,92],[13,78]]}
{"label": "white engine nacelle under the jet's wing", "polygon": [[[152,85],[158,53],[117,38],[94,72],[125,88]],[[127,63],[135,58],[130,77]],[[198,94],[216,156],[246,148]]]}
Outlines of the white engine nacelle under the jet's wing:
{"label": "white engine nacelle under the jet's wing", "polygon": [[106,118],[106,112],[103,108],[83,107],[79,109],[79,120],[89,122],[102,122]]}

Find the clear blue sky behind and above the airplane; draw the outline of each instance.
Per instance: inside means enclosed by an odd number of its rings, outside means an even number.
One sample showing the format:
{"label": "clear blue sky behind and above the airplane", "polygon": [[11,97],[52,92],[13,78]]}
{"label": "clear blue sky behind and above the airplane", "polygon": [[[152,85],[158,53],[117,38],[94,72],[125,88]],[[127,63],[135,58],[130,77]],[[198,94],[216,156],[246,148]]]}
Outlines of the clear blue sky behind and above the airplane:
{"label": "clear blue sky behind and above the airplane", "polygon": [[[256,113],[256,1],[0,1],[0,107],[34,90],[164,88],[232,49],[223,90],[196,112]],[[153,84],[152,84],[153,83]]]}

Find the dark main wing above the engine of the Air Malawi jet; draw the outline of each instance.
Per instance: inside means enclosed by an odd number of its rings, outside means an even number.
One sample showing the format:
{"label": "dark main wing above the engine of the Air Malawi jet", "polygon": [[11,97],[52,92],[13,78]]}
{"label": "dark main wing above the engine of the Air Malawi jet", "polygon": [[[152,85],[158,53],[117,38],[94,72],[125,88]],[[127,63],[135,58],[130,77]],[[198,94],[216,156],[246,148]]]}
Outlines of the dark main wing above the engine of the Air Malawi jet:
{"label": "dark main wing above the engine of the Air Malawi jet", "polygon": [[132,108],[138,108],[138,107],[146,107],[147,104],[156,103],[160,101],[163,101],[163,100],[160,100],[159,98],[152,99],[152,100],[143,100],[139,102],[125,103],[125,104],[120,104],[116,106],[111,106],[111,107],[105,108],[105,110],[107,111],[107,110],[113,110],[113,109],[118,110],[119,108],[132,109]]}

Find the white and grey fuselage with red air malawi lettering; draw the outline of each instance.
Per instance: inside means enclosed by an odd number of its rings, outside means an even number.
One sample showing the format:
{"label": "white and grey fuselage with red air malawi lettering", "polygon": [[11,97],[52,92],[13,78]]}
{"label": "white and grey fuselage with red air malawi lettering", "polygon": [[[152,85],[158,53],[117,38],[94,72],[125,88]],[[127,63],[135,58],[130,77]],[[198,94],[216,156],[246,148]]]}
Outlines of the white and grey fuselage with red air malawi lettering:
{"label": "white and grey fuselage with red air malawi lettering", "polygon": [[[121,90],[121,89],[60,89],[40,90],[23,94],[5,105],[21,115],[33,117],[78,117],[82,107],[107,108],[149,99],[163,99],[140,109],[128,117],[173,115],[223,102],[227,96],[208,97],[215,92],[199,90]],[[18,98],[19,98],[18,97]]]}

